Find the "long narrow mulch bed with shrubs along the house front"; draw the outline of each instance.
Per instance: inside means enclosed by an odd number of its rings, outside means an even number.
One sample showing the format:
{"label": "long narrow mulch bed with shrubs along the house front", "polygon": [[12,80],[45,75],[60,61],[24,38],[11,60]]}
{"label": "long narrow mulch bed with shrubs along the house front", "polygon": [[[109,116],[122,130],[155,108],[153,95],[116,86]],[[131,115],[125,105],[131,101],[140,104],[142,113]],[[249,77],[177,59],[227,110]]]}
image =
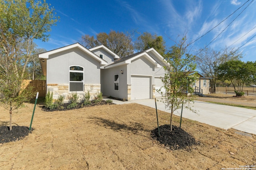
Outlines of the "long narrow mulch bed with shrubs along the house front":
{"label": "long narrow mulch bed with shrubs along the house front", "polygon": [[45,106],[42,107],[43,111],[65,111],[65,110],[72,110],[72,109],[80,109],[83,107],[92,107],[92,106],[100,106],[100,105],[112,105],[113,103],[107,103],[105,100],[102,100],[101,102],[95,103],[92,101],[90,105],[82,106],[82,103],[78,103],[78,106],[73,107],[73,108],[68,108],[69,103],[63,104],[63,108],[56,108],[56,109],[49,109],[46,108]]}

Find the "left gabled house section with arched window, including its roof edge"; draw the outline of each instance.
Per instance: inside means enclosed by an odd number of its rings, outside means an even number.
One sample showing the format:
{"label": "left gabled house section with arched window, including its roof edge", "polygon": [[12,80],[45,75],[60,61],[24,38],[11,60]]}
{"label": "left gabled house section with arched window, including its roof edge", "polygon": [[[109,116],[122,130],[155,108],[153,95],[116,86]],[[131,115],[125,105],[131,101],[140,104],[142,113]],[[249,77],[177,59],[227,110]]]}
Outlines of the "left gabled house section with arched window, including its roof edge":
{"label": "left gabled house section with arched window, including its roof edge", "polygon": [[47,92],[53,92],[54,99],[64,95],[64,101],[68,101],[75,92],[80,97],[88,90],[91,96],[100,92],[100,66],[107,62],[82,45],[70,45],[38,57],[46,76]]}

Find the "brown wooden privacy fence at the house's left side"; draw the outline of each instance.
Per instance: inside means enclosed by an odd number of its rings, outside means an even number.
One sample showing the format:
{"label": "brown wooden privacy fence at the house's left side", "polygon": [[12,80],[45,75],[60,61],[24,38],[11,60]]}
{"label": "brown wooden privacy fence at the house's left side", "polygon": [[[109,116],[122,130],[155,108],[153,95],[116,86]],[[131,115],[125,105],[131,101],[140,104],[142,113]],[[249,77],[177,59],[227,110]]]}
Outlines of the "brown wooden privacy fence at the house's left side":
{"label": "brown wooden privacy fence at the house's left side", "polygon": [[46,96],[46,80],[24,80],[26,87],[34,87],[33,92],[38,92],[38,97]]}

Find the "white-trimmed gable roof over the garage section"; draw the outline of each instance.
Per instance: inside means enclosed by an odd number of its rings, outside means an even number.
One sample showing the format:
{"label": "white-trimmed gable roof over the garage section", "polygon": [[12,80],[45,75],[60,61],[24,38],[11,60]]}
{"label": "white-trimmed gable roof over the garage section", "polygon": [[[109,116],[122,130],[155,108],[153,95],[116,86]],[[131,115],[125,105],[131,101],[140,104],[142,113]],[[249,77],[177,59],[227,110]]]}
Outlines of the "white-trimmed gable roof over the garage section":
{"label": "white-trimmed gable roof over the garage section", "polygon": [[145,56],[151,63],[153,63],[155,68],[160,67],[160,64],[156,60],[154,60],[146,51],[141,51],[141,52],[117,59],[116,61],[114,61],[114,63],[109,64],[104,68],[111,68],[111,67],[115,67],[123,64],[130,64],[133,60],[142,56]]}

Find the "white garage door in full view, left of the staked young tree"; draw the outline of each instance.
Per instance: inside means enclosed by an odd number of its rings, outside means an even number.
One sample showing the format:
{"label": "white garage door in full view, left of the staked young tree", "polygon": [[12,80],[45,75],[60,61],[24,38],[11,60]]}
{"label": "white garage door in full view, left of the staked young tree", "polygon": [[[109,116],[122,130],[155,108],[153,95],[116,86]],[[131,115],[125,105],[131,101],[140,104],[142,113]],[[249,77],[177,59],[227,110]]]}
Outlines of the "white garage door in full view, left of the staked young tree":
{"label": "white garage door in full view, left of the staked young tree", "polygon": [[131,100],[150,98],[150,77],[131,77]]}

